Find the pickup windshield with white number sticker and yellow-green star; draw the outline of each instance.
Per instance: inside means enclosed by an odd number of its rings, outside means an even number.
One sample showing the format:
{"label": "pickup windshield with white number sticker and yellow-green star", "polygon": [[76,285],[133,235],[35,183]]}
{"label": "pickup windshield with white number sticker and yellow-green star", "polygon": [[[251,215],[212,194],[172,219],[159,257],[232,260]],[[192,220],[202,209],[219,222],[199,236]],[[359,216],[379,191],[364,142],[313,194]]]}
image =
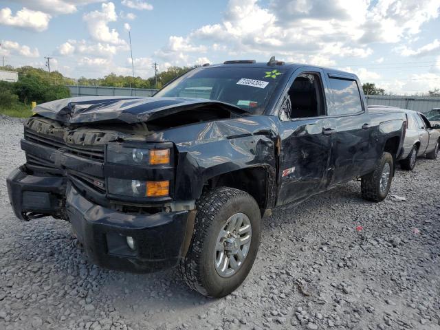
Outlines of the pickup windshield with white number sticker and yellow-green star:
{"label": "pickup windshield with white number sticker and yellow-green star", "polygon": [[261,114],[285,69],[201,67],[177,78],[154,97],[206,98]]}

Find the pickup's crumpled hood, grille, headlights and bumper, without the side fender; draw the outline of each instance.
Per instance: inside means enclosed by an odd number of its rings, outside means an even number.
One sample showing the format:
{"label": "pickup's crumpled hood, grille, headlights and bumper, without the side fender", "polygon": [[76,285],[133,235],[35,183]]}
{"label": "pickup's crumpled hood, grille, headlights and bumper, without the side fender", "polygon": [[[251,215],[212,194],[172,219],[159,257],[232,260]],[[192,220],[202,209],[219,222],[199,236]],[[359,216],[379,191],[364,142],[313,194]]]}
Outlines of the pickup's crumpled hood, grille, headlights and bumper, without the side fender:
{"label": "pickup's crumpled hood, grille, headlights and bumper, without the side fender", "polygon": [[[230,118],[231,111],[212,103],[41,104],[25,122],[26,164],[7,179],[14,213],[26,221],[48,215],[70,221],[89,257],[104,267],[151,272],[175,265],[190,243],[195,201],[174,199],[173,142],[146,140],[167,126]],[[219,111],[199,116],[208,104]]]}

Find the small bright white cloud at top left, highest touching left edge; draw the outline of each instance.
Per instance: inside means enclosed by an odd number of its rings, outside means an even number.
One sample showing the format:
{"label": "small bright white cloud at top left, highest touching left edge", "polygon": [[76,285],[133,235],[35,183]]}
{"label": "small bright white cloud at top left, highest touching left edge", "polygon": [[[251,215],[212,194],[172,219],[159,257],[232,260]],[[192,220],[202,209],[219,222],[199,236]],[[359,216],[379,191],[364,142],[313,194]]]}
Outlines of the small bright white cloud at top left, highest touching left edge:
{"label": "small bright white cloud at top left, highest touching left edge", "polygon": [[26,28],[38,32],[47,30],[50,21],[50,14],[45,12],[23,8],[14,15],[10,8],[0,10],[0,24],[10,25],[16,28]]}

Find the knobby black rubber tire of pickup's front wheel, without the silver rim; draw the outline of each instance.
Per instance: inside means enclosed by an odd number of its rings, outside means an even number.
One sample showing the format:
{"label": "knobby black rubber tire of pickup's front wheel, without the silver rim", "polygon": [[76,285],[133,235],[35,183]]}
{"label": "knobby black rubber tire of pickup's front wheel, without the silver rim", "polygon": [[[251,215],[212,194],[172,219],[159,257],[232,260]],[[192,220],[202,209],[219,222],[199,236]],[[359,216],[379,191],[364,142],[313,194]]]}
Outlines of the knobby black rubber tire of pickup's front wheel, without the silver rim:
{"label": "knobby black rubber tire of pickup's front wheel, without the silver rim", "polygon": [[[197,201],[196,208],[194,232],[188,253],[180,261],[180,274],[191,289],[203,296],[220,298],[239,287],[254,264],[261,236],[260,208],[247,192],[228,187],[214,188],[204,192]],[[217,270],[214,264],[221,256],[217,248],[221,245],[218,239],[219,237],[223,239],[221,230],[225,229],[224,226],[230,223],[229,219],[236,217],[236,214],[245,214],[248,217],[251,226],[250,238],[248,237],[250,245],[239,268],[234,270],[233,274],[221,276],[220,270]],[[223,246],[227,244],[229,242],[223,243]],[[226,250],[224,255],[227,255]],[[232,260],[230,262],[232,263]]]}

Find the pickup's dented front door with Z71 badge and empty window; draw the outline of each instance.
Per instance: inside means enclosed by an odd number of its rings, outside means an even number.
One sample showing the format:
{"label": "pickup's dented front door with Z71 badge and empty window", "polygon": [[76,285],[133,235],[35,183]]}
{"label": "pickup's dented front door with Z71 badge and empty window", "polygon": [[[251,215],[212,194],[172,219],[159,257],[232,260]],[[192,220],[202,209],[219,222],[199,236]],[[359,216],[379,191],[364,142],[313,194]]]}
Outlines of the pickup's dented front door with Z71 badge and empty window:
{"label": "pickup's dented front door with Z71 badge and empty window", "polygon": [[327,168],[335,132],[327,118],[325,82],[316,68],[298,69],[280,113],[277,206],[308,197],[329,184]]}

